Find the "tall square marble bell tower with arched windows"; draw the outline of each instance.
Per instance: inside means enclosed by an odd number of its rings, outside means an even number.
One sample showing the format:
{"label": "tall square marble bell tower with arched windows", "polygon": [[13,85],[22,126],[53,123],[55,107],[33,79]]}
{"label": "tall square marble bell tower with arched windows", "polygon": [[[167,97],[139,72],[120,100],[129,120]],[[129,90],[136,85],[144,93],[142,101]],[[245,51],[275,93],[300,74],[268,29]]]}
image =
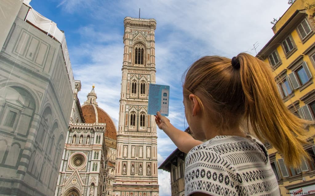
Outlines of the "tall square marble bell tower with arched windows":
{"label": "tall square marble bell tower with arched windows", "polygon": [[124,19],[115,196],[158,196],[157,131],[147,114],[155,83],[155,19]]}

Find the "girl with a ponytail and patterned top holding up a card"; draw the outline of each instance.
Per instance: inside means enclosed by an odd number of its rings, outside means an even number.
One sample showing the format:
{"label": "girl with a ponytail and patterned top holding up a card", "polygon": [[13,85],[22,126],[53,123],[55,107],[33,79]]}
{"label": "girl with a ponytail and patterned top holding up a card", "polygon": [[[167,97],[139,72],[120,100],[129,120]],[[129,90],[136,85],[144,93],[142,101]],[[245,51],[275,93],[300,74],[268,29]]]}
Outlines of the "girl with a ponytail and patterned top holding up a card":
{"label": "girl with a ponytail and patterned top holding up a card", "polygon": [[[176,129],[159,112],[155,121],[187,153],[185,195],[280,195],[262,140],[287,165],[308,158],[306,121],[284,105],[269,65],[246,53],[232,60],[205,56],[186,72],[183,97],[187,123],[196,139]],[[247,129],[241,124],[247,121]],[[248,127],[252,127],[250,135]],[[199,140],[207,140],[201,142]]]}

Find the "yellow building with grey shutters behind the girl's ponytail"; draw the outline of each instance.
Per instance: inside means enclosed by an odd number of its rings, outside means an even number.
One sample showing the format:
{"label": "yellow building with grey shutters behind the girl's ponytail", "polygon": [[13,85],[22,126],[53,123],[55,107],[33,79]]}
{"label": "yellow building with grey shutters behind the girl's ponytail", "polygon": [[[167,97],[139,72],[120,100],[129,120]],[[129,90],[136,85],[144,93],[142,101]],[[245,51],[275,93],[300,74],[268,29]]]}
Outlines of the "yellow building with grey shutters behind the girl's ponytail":
{"label": "yellow building with grey shutters behind the girl's ponytail", "polygon": [[[274,36],[257,54],[272,66],[285,105],[307,120],[315,118],[314,15],[315,0],[296,0],[272,27]],[[266,145],[281,195],[315,195],[315,129],[309,126],[307,130],[309,145],[304,148],[312,160],[302,160],[301,168],[287,167],[277,150]]]}

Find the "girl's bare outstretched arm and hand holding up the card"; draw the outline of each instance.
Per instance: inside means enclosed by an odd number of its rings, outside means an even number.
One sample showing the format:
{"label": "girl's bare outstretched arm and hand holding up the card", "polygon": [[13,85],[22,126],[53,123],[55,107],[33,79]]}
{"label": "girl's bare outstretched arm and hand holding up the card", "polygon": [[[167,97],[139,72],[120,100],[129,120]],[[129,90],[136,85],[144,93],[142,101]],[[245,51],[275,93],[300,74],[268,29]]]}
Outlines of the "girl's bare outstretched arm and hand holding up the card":
{"label": "girl's bare outstretched arm and hand holding up the card", "polygon": [[162,129],[182,152],[188,153],[193,147],[203,143],[199,140],[195,140],[188,133],[176,129],[169,122],[169,119],[162,116],[160,112],[157,112],[155,122],[157,123],[158,128]]}

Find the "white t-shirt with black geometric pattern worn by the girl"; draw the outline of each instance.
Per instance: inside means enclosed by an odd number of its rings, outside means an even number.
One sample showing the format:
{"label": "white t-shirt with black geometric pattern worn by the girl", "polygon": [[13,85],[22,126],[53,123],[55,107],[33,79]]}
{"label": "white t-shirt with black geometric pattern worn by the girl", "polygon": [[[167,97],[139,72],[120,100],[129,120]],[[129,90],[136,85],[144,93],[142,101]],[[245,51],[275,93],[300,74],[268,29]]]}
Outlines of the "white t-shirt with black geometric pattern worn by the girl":
{"label": "white t-shirt with black geometric pattern worn by the girl", "polygon": [[261,141],[220,135],[195,146],[185,161],[185,195],[275,196],[278,182]]}

